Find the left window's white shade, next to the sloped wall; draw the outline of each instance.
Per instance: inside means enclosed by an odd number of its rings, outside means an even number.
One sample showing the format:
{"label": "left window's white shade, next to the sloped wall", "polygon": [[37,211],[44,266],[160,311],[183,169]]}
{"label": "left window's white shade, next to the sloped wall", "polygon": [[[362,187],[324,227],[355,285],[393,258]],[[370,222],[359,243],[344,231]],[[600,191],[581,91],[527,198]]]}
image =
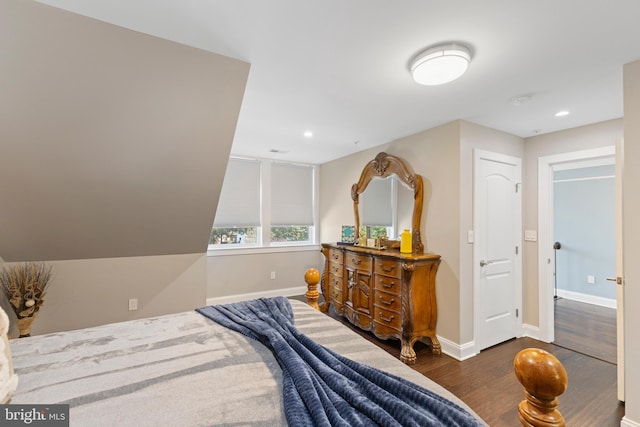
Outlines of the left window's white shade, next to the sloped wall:
{"label": "left window's white shade, next to the sloped wall", "polygon": [[213,226],[260,226],[260,162],[229,159]]}

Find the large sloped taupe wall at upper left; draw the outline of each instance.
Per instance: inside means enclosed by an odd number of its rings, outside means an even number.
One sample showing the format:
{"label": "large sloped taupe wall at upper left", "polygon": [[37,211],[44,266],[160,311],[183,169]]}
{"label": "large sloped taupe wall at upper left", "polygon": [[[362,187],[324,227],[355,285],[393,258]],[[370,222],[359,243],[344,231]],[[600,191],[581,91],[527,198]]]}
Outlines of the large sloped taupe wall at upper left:
{"label": "large sloped taupe wall at upper left", "polygon": [[249,64],[0,0],[0,256],[205,252]]}

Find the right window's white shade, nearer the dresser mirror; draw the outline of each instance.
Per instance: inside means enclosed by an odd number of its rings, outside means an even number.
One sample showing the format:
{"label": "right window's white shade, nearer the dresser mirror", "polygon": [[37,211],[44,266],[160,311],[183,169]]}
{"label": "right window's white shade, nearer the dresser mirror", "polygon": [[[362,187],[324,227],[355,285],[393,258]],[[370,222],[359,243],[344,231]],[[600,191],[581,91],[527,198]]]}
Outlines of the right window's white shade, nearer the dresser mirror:
{"label": "right window's white shade, nearer the dresser mirror", "polygon": [[313,167],[271,165],[271,225],[313,225]]}

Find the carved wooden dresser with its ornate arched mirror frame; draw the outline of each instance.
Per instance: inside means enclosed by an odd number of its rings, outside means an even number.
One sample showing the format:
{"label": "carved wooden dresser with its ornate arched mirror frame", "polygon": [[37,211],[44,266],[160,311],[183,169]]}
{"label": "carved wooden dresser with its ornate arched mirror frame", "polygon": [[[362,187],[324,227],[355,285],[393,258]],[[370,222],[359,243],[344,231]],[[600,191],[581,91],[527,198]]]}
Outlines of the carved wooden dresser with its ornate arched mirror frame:
{"label": "carved wooden dresser with its ornate arched mirror frame", "polygon": [[[360,195],[371,180],[378,178],[397,179],[399,185],[413,192],[413,206],[409,206],[412,208],[409,210],[412,213],[411,232],[406,231],[402,250],[398,241],[387,240],[386,236],[367,239],[369,236],[360,232]],[[423,253],[420,238],[422,177],[411,173],[399,158],[379,153],[367,163],[360,180],[352,186],[351,198],[358,243],[356,246],[322,245],[325,271],[321,286],[325,302],[320,309],[326,311],[333,306],[337,314],[379,338],[400,339],[400,359],[405,363],[416,361],[413,345],[418,340],[426,340],[431,351],[439,354],[435,277],[440,255]]]}

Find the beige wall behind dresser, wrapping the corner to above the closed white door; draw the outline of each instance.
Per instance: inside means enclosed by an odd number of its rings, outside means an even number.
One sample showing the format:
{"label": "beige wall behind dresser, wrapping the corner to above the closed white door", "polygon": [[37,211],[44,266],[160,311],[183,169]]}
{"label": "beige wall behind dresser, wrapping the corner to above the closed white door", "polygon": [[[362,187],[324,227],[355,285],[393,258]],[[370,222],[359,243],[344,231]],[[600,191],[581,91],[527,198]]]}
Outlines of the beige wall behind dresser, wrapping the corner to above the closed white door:
{"label": "beige wall behind dresser, wrapping the corner to above the closed white door", "polygon": [[320,168],[321,241],[340,239],[341,226],[353,224],[351,186],[364,165],[380,151],[405,160],[425,183],[421,234],[425,250],[442,256],[438,269],[438,335],[463,344],[473,339],[472,229],[473,149],[522,156],[521,138],[464,121],[408,136]]}

